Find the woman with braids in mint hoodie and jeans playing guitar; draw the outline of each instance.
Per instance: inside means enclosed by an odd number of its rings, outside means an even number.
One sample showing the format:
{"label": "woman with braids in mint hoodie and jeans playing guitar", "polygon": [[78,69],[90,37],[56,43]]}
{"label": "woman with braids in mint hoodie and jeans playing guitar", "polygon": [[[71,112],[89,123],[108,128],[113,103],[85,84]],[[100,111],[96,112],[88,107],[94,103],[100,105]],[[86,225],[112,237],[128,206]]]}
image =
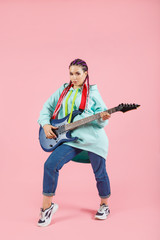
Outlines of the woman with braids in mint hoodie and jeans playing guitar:
{"label": "woman with braids in mint hoodie and jeans playing guitar", "polygon": [[[48,157],[44,164],[43,176],[43,206],[40,209],[40,219],[38,226],[47,226],[51,222],[52,215],[57,211],[58,204],[52,203],[55,195],[59,170],[70,160],[91,163],[97,189],[101,198],[100,208],[95,218],[106,219],[110,213],[108,207],[108,197],[110,196],[110,182],[106,172],[106,157],[108,153],[108,138],[104,131],[104,126],[108,124],[110,114],[103,112],[107,110],[97,85],[89,84],[88,66],[85,61],[75,59],[69,65],[70,82],[63,84],[44,103],[40,112],[38,123],[43,127],[47,138],[55,138],[52,131],[56,127],[50,124],[50,119],[64,118],[74,110],[81,110],[73,118],[73,121],[83,119],[96,113],[100,113],[100,118],[71,131],[72,137],[78,137],[77,141],[65,142],[59,145]],[[87,84],[86,84],[87,83]],[[68,122],[71,121],[69,118]],[[83,161],[82,153],[86,153]],[[79,159],[79,160],[78,160]]]}

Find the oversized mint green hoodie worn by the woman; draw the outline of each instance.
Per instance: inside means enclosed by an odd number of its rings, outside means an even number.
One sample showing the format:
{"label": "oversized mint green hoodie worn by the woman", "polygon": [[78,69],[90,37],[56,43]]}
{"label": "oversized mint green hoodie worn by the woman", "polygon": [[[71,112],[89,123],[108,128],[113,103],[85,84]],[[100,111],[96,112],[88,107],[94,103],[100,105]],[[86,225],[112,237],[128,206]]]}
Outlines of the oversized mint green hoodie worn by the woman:
{"label": "oversized mint green hoodie worn by the woman", "polygon": [[[43,109],[40,111],[40,116],[37,122],[43,127],[45,124],[50,124],[50,119],[53,115],[54,109],[58,102],[58,99],[63,91],[63,89],[68,86],[68,83],[64,83],[60,88],[53,93],[48,100],[44,103]],[[73,91],[68,99],[68,113],[71,111],[73,97],[77,89],[70,88],[67,95],[63,99],[62,105],[58,112],[58,119],[65,117],[65,101],[70,93]],[[78,88],[77,97],[74,103],[74,110],[78,110],[81,103],[82,88]],[[90,97],[89,97],[89,107],[84,110],[80,115],[74,117],[73,122],[78,121],[82,118],[91,116],[93,114],[103,112],[107,110],[105,103],[103,102],[101,95],[97,89],[97,85],[90,85]],[[71,131],[71,137],[78,137],[79,139],[74,142],[65,142],[69,146],[80,148],[84,151],[79,153],[76,157],[71,159],[75,162],[90,163],[88,157],[88,151],[96,153],[106,159],[108,154],[108,137],[105,133],[104,127],[108,124],[107,120],[96,119],[85,125],[79,126],[78,128]]]}

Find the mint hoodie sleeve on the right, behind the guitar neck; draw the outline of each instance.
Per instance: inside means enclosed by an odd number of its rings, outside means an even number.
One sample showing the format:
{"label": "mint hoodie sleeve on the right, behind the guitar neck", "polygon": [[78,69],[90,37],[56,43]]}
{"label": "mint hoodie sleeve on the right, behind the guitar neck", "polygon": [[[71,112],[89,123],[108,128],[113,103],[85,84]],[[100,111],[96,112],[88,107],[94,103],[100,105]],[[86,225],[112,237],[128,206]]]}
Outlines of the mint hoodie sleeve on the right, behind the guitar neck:
{"label": "mint hoodie sleeve on the right, behind the guitar neck", "polygon": [[[108,110],[108,108],[105,105],[99,91],[94,90],[90,94],[88,110],[85,109],[81,114],[77,115],[74,118],[74,121],[78,121],[80,119],[83,119],[85,117],[89,117],[91,115],[103,112],[105,110]],[[92,125],[94,125],[98,128],[104,128],[108,124],[108,121],[109,121],[109,119],[102,120],[102,118],[100,118],[100,119],[96,119],[96,120],[94,120],[90,123],[87,123],[87,124],[92,124]]]}

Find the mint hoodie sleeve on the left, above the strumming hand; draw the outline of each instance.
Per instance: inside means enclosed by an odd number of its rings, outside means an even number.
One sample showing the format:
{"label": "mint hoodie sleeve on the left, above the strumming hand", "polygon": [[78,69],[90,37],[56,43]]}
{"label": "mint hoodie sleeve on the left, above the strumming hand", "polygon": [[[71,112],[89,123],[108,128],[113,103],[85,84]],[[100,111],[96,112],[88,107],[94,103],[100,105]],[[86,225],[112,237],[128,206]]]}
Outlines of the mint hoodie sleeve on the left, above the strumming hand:
{"label": "mint hoodie sleeve on the left, above the strumming hand", "polygon": [[54,92],[48,100],[43,104],[43,108],[40,111],[39,118],[37,122],[43,127],[45,124],[50,124],[50,119],[53,116],[53,112],[55,110],[55,107],[57,105],[58,99],[66,87],[66,83],[64,83],[60,88],[57,89],[56,92]]}

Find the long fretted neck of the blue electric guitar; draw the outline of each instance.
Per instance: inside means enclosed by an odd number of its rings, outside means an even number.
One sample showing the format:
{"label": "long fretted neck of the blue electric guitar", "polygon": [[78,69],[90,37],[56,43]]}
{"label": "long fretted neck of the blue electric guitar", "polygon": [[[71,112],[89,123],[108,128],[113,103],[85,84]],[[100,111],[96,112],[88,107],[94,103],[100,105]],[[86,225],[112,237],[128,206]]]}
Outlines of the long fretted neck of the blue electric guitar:
{"label": "long fretted neck of the blue electric guitar", "polygon": [[[112,114],[112,113],[114,113],[116,111],[117,111],[117,109],[116,109],[116,107],[114,107],[114,108],[110,108],[110,109],[108,109],[106,111],[103,111],[103,112],[108,112],[109,114]],[[79,126],[82,126],[82,125],[84,125],[86,123],[92,122],[92,121],[94,121],[96,119],[100,119],[100,118],[101,118],[100,113],[96,113],[96,114],[94,114],[92,116],[83,118],[83,119],[75,121],[73,123],[66,124],[65,125],[65,130],[66,131],[73,130],[73,129],[79,127]]]}

